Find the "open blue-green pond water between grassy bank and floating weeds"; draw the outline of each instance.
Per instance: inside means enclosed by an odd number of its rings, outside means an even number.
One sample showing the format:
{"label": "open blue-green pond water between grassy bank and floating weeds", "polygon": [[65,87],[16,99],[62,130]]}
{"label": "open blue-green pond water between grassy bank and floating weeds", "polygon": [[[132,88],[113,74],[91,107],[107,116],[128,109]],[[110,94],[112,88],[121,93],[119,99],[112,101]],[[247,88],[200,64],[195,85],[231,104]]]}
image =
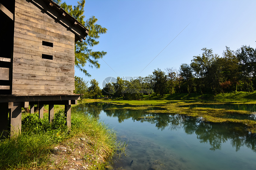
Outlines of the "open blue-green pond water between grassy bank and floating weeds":
{"label": "open blue-green pond water between grassy bank and floating weeds", "polygon": [[241,124],[206,123],[185,115],[122,109],[124,107],[132,106],[89,103],[72,108],[99,117],[118,132],[120,140],[128,143],[126,156],[115,162],[116,169],[256,167],[256,135]]}

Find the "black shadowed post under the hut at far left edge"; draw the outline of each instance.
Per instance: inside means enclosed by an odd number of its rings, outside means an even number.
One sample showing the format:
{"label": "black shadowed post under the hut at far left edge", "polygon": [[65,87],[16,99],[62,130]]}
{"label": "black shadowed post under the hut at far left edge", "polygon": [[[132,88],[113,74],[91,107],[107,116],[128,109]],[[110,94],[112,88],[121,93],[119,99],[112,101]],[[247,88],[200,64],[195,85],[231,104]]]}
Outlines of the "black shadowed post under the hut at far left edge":
{"label": "black shadowed post under the hut at far left edge", "polygon": [[8,130],[8,112],[9,112],[9,103],[0,103],[1,114],[0,114],[0,136],[7,137],[9,132]]}

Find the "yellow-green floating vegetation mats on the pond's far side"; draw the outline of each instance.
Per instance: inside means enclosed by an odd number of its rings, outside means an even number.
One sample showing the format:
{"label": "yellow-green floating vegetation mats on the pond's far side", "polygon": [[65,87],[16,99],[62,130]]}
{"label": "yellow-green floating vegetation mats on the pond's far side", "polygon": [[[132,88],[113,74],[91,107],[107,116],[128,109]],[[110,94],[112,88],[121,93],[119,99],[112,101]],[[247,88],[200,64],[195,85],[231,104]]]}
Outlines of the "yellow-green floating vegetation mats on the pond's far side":
{"label": "yellow-green floating vegetation mats on the pond's far side", "polygon": [[[123,101],[127,102],[127,101]],[[141,104],[143,101],[139,101]],[[129,101],[130,105],[134,105],[138,103],[138,101]],[[149,103],[154,103],[150,101]],[[256,133],[256,120],[254,120],[253,116],[251,116],[252,120],[250,120],[250,116],[253,112],[246,110],[232,110],[232,109],[221,109],[221,108],[210,108],[210,105],[224,105],[224,104],[255,104],[256,102],[241,102],[241,101],[229,101],[229,102],[198,102],[198,101],[176,101],[176,102],[168,102],[165,104],[160,103],[160,101],[156,101],[155,104],[158,104],[157,110],[146,110],[145,112],[154,113],[154,114],[182,114],[193,117],[201,117],[201,119],[205,122],[212,123],[239,123],[242,124],[246,129],[251,133]],[[114,104],[114,103],[113,103]],[[194,105],[204,106],[204,107],[193,107]],[[209,107],[207,107],[209,105]],[[155,106],[155,105],[154,105]],[[153,106],[153,107],[154,107]],[[131,109],[131,110],[142,110],[149,109],[152,107],[151,104],[148,106],[140,106],[137,107],[123,107],[119,109]],[[118,108],[108,108],[108,109],[118,109]],[[247,116],[248,115],[248,116]],[[256,116],[255,116],[256,117]],[[148,118],[139,117],[142,119]],[[149,118],[153,118],[153,116],[149,116]]]}

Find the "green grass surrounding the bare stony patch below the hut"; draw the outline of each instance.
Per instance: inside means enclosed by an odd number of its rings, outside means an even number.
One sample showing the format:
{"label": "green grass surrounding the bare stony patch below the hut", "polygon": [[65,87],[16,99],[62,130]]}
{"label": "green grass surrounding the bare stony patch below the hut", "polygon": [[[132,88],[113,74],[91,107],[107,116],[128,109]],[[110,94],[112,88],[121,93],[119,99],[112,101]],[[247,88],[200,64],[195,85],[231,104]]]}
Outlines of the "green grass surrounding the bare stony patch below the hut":
{"label": "green grass surrounding the bare stony patch below the hut", "polygon": [[[51,148],[76,136],[86,136],[93,141],[90,149],[94,157],[106,160],[116,150],[124,150],[124,145],[116,142],[115,131],[82,112],[72,112],[70,130],[65,126],[63,111],[55,113],[52,123],[49,123],[47,115],[41,120],[37,114],[28,114],[23,115],[20,134],[11,139],[1,139],[0,169],[49,169]],[[90,159],[90,155],[85,156],[89,157],[87,160],[95,160]],[[89,165],[89,169],[104,169],[97,161],[90,161]]]}

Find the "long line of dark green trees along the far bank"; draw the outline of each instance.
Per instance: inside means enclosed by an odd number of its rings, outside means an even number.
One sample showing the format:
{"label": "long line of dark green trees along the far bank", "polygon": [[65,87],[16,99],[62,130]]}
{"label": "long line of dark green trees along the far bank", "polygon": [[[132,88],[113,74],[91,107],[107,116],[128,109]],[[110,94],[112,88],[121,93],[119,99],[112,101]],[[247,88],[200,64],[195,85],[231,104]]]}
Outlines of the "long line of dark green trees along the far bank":
{"label": "long line of dark green trees along the far bank", "polygon": [[[163,96],[174,93],[218,94],[226,92],[247,91],[256,88],[256,49],[242,46],[236,51],[229,47],[222,57],[213,54],[212,49],[203,48],[202,55],[193,56],[190,64],[182,63],[179,69],[166,68],[154,70],[152,75],[138,77],[130,81],[117,77],[116,82],[109,82],[101,90],[95,79],[88,82],[75,78],[78,85],[85,84],[85,97],[123,97],[124,99],[141,99],[144,95]],[[103,95],[103,96],[102,96]]]}

